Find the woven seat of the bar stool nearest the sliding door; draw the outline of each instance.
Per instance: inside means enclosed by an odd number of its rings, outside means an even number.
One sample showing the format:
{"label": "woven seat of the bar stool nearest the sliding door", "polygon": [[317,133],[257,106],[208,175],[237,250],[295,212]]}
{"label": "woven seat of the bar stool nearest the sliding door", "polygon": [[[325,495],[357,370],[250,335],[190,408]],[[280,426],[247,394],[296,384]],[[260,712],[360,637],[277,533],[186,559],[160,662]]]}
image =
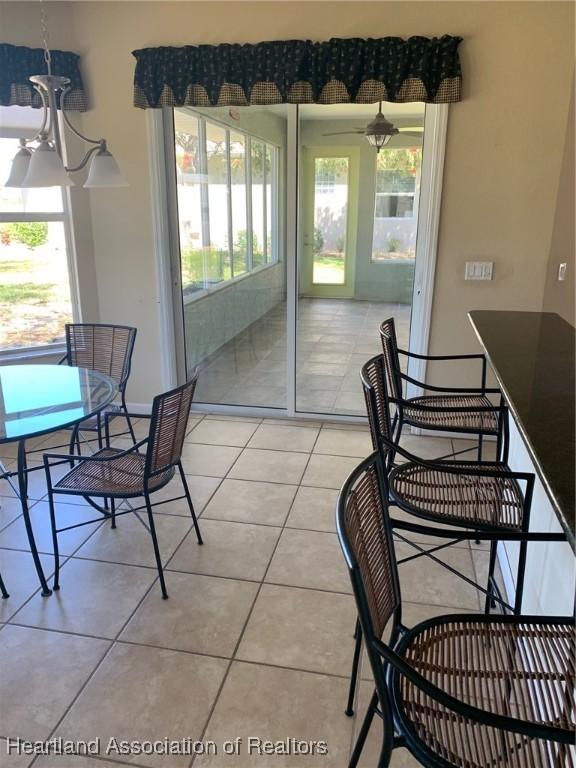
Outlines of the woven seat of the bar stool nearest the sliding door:
{"label": "woven seat of the bar stool nearest the sliding door", "polygon": [[410,403],[437,408],[493,408],[494,404],[484,395],[428,395],[412,397],[405,403],[404,422],[406,424],[424,429],[498,434],[498,413],[495,411],[469,413],[464,411],[421,411],[418,408],[410,408]]}

